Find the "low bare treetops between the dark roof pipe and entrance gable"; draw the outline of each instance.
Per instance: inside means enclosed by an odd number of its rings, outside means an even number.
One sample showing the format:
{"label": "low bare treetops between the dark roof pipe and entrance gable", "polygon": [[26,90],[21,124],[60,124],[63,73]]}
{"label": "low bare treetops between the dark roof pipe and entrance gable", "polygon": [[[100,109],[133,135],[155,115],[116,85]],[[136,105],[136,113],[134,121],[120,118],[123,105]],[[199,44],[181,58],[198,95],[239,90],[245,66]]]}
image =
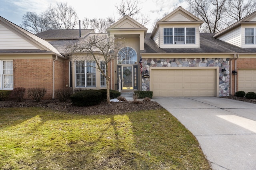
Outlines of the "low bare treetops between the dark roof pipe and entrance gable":
{"label": "low bare treetops between the dark roof pipe and entrance gable", "polygon": [[114,23],[115,20],[111,17],[108,17],[106,19],[89,19],[86,17],[82,21],[82,26],[84,27],[84,29],[94,29],[96,33],[106,33],[106,29]]}

